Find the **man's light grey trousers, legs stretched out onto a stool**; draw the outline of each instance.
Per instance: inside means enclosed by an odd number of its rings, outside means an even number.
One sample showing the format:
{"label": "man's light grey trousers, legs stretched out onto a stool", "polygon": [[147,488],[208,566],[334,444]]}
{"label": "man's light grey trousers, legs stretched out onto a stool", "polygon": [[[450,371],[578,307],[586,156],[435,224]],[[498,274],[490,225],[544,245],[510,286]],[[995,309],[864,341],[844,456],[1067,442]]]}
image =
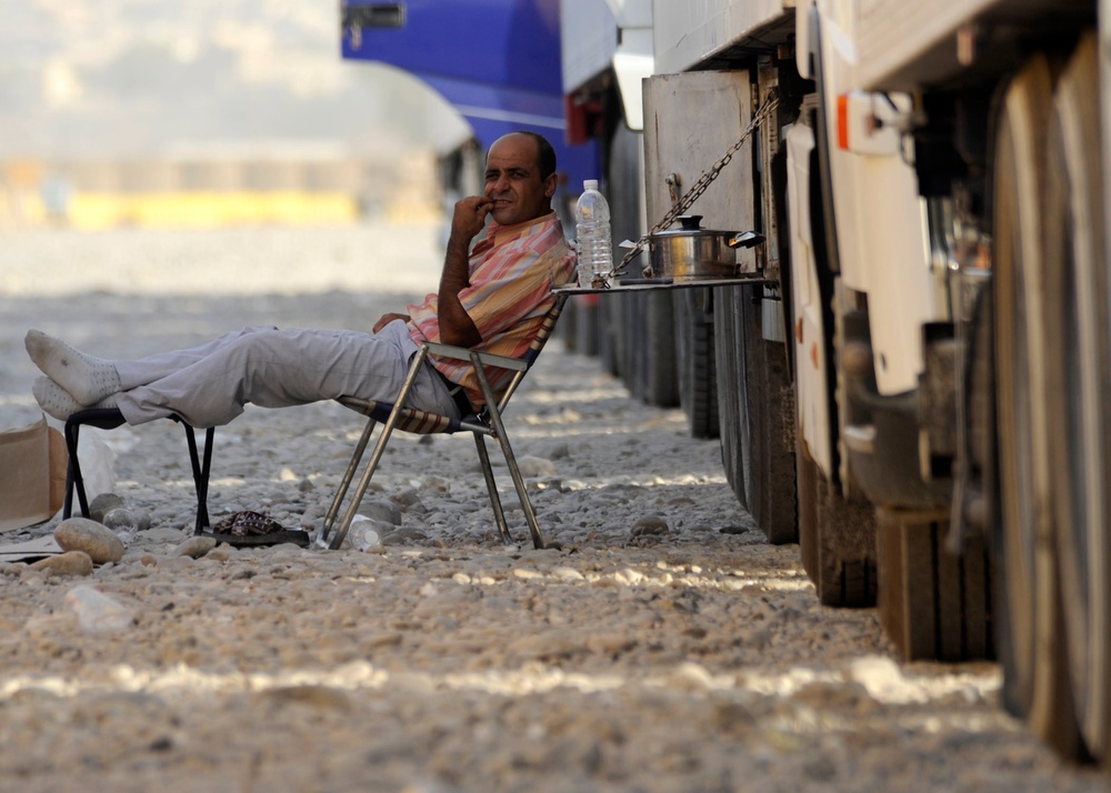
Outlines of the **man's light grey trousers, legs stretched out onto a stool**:
{"label": "man's light grey trousers, legs stretched out onto a stool", "polygon": [[[129,424],[178,414],[197,428],[229,423],[243,405],[287,408],[338,396],[393,401],[417,344],[397,320],[380,333],[246,328],[204,344],[139,361],[113,361],[117,404]],[[427,364],[408,404],[458,415],[448,387]]]}

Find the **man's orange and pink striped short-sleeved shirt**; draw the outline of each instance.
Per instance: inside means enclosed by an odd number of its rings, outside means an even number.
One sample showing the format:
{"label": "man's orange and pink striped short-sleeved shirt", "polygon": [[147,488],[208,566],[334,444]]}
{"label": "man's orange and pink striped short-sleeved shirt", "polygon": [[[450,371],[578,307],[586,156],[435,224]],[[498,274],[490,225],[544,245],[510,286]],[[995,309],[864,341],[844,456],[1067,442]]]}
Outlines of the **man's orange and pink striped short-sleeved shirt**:
{"label": "man's orange and pink striped short-sleeved shirt", "polygon": [[[497,355],[521,358],[556,302],[552,288],[568,283],[574,275],[574,252],[567,244],[563,227],[554,212],[514,225],[491,221],[471,250],[470,285],[459,293],[459,301],[478,329],[482,341],[474,348]],[[411,304],[409,334],[422,341],[440,341],[437,295]],[[472,404],[486,399],[469,361],[452,361],[436,355],[429,359],[441,374],[467,390]],[[512,372],[487,369],[487,378],[500,393]]]}

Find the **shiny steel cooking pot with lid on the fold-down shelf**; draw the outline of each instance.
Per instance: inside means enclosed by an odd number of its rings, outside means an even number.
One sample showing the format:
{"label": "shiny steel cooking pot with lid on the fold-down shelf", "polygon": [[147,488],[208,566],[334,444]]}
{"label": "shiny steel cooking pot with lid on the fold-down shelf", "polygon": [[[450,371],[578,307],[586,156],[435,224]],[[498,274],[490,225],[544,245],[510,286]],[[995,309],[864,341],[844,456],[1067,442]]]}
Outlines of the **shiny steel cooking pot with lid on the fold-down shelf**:
{"label": "shiny steel cooking pot with lid on the fold-down shelf", "polygon": [[751,231],[712,231],[701,228],[702,215],[680,215],[681,227],[649,234],[650,261],[647,278],[694,279],[735,278],[737,248],[751,248],[763,240]]}

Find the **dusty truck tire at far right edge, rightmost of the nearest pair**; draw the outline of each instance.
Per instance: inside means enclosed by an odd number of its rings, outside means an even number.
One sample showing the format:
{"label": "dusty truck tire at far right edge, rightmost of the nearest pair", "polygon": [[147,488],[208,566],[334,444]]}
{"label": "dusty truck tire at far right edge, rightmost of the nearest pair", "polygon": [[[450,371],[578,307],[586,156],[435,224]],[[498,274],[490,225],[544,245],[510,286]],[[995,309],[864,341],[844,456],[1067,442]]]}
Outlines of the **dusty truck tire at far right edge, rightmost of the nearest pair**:
{"label": "dusty truck tire at far right edge, rightmost of the nearest pair", "polygon": [[1099,57],[1085,36],[1058,80],[1044,258],[1053,525],[1072,703],[1088,753],[1111,761],[1111,383],[1103,261]]}

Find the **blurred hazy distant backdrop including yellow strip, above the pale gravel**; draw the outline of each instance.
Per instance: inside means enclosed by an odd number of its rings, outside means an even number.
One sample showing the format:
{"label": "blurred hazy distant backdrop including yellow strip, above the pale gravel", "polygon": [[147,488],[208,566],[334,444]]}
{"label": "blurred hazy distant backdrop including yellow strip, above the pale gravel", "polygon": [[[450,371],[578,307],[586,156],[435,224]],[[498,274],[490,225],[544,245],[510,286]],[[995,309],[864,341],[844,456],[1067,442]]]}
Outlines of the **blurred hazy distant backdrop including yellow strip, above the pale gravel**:
{"label": "blurred hazy distant backdrop including yellow strip, above the pale gravel", "polygon": [[0,0],[0,231],[431,221],[466,122],[334,2]]}

